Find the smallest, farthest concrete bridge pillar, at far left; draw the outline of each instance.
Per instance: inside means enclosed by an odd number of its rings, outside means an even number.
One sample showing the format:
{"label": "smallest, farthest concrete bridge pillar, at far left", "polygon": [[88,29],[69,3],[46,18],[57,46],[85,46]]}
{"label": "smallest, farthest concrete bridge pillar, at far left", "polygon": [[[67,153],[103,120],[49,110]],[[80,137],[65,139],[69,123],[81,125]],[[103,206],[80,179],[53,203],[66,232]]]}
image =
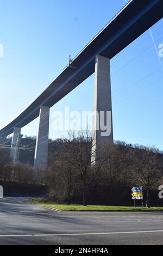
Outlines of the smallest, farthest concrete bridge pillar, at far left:
{"label": "smallest, farthest concrete bridge pillar, at far left", "polygon": [[19,155],[18,146],[20,145],[20,137],[21,137],[21,128],[14,127],[14,133],[12,136],[11,150],[10,150],[10,157],[12,158],[14,163],[18,162],[18,155]]}

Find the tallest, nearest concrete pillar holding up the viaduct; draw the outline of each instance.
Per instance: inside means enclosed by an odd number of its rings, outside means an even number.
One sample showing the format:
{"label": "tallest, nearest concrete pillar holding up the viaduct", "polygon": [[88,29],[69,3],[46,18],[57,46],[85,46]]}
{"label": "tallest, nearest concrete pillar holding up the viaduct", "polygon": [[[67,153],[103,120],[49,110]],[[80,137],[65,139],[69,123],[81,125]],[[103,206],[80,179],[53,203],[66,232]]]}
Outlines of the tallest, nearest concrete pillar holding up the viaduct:
{"label": "tallest, nearest concrete pillar holding up the viaduct", "polygon": [[96,56],[92,163],[104,144],[113,143],[110,59]]}

